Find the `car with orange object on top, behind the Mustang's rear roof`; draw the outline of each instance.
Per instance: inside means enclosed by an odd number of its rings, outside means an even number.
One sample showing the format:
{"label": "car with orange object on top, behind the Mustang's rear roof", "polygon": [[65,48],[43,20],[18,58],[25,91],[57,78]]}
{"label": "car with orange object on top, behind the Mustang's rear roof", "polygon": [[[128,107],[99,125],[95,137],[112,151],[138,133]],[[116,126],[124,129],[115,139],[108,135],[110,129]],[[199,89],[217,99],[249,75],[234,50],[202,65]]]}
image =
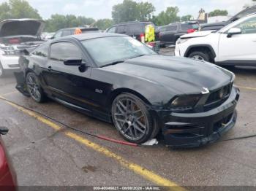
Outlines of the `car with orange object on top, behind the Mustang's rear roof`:
{"label": "car with orange object on top, behind the Mustang's rear roof", "polygon": [[85,27],[62,28],[59,31],[56,31],[56,34],[54,34],[51,39],[56,39],[56,38],[63,37],[63,36],[73,35],[73,34],[75,34],[76,29],[80,29],[83,34],[99,33],[98,28],[85,28]]}

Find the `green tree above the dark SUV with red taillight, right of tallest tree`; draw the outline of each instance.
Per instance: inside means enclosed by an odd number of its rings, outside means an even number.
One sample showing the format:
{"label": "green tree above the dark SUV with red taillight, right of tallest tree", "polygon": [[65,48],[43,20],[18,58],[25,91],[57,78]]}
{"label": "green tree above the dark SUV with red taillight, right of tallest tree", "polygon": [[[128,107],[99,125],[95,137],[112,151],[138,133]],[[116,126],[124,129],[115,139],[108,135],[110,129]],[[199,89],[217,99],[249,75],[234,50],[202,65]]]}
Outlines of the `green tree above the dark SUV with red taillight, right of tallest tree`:
{"label": "green tree above the dark SUV with red taillight, right of tallest tree", "polygon": [[167,7],[165,11],[159,13],[159,15],[153,17],[153,22],[157,26],[164,26],[170,23],[180,21],[180,17],[178,17],[178,7]]}

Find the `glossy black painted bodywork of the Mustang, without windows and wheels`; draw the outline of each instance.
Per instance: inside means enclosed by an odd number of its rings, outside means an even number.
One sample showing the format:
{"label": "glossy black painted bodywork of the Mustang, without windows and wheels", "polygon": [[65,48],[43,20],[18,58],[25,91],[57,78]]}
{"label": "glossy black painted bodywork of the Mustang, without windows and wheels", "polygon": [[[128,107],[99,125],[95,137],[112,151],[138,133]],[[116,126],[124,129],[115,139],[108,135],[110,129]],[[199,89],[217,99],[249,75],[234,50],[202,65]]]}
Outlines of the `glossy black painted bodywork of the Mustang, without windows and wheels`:
{"label": "glossy black painted bodywork of the Mustang, without windows and wheels", "polygon": [[[95,38],[116,35],[98,34]],[[42,89],[50,98],[107,122],[112,122],[110,107],[116,95],[124,92],[133,93],[145,102],[148,111],[157,118],[162,127],[165,143],[175,147],[195,147],[215,140],[206,141],[206,138],[212,135],[206,123],[213,124],[231,112],[235,114],[239,98],[236,87],[232,87],[232,96],[230,95],[227,101],[208,112],[198,109],[197,112],[190,113],[173,112],[170,109],[170,102],[178,95],[200,95],[203,87],[208,87],[211,93],[232,83],[234,77],[230,72],[210,63],[162,55],[146,55],[99,68],[80,44],[81,36],[64,37],[50,43],[72,42],[80,47],[83,51],[83,61],[86,63],[85,72],[80,72],[78,66],[68,66],[70,70],[65,71],[67,66],[63,63],[61,67],[56,68],[53,61],[48,58],[42,60],[34,55],[25,55],[20,58],[23,74],[16,74],[18,90],[26,94],[24,79],[26,74],[32,71],[37,74]],[[174,125],[170,125],[170,122],[174,122]],[[175,133],[166,133],[170,128],[177,128],[179,122],[189,124],[191,130],[197,125],[205,125],[202,126],[205,131],[193,139],[189,137],[194,131],[189,131],[190,134],[187,136],[184,127],[180,128],[176,137]],[[232,124],[228,128],[232,128],[234,122]]]}

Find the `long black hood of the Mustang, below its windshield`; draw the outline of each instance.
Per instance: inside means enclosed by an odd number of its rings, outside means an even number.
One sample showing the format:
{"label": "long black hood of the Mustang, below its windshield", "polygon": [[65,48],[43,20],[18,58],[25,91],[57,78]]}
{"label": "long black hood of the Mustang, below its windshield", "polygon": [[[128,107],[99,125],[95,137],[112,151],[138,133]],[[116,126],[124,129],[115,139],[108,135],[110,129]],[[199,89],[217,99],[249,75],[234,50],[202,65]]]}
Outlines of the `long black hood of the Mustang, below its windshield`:
{"label": "long black hood of the Mustang, below its windshield", "polygon": [[231,72],[211,63],[163,55],[132,58],[105,69],[148,80],[181,94],[201,93],[203,87],[215,90],[233,79]]}

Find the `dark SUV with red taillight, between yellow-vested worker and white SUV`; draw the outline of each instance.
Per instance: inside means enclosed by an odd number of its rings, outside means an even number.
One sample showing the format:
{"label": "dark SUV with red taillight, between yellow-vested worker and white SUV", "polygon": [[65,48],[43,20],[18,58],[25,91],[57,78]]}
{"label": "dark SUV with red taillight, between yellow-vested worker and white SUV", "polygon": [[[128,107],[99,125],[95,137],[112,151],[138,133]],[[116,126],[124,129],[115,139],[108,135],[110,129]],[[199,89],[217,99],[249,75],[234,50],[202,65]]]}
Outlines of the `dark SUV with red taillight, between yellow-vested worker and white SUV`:
{"label": "dark SUV with red taillight, between yellow-vested worker and white SUV", "polygon": [[199,24],[195,22],[172,23],[167,26],[159,26],[156,30],[157,40],[162,47],[175,45],[177,39],[184,35],[198,30]]}

